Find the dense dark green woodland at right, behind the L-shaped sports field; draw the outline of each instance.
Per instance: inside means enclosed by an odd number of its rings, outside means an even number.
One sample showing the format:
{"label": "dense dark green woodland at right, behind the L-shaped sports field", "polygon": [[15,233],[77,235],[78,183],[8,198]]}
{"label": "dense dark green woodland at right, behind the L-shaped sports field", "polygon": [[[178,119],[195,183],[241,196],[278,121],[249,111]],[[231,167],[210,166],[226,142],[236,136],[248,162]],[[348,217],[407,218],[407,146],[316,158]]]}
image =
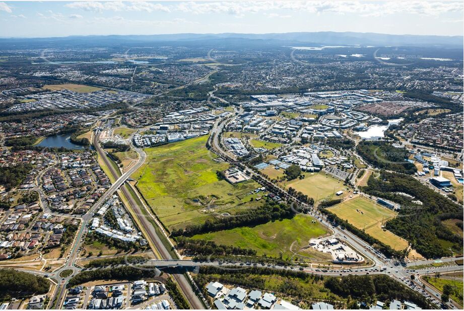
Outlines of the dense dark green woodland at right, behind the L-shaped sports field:
{"label": "dense dark green woodland at right, behind the L-shaped sports field", "polygon": [[[427,258],[451,256],[452,252],[443,247],[441,240],[451,242],[455,249],[462,249],[462,238],[441,222],[456,217],[462,219],[462,206],[412,176],[381,171],[379,178],[369,177],[362,191],[401,204],[399,216],[388,220],[385,227],[410,242],[421,255]],[[399,193],[413,196],[422,204],[413,203],[410,197]]]}

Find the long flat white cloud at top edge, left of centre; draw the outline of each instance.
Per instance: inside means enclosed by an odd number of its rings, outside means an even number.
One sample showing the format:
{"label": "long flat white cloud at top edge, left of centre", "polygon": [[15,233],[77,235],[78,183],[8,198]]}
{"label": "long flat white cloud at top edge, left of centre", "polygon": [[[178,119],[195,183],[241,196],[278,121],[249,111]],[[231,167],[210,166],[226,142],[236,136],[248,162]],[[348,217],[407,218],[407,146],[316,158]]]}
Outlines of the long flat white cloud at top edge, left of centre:
{"label": "long flat white cloud at top edge, left of centre", "polygon": [[136,11],[136,12],[170,12],[170,9],[162,4],[150,2],[72,2],[65,7],[71,9],[81,9],[85,11],[102,12],[102,11]]}

